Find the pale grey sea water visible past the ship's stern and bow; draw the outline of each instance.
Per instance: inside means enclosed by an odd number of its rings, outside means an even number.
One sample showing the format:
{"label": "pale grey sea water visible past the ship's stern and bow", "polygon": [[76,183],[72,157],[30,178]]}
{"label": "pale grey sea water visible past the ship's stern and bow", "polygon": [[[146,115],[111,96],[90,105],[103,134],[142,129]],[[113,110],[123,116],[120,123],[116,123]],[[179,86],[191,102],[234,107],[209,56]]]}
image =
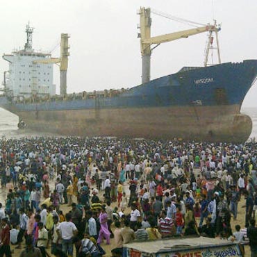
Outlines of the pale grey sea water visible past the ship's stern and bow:
{"label": "pale grey sea water visible past the ship's stern and bow", "polygon": [[[256,108],[242,108],[241,113],[249,115],[253,122],[253,130],[251,131],[250,138],[257,140],[257,107]],[[56,136],[53,133],[38,133],[37,131],[28,131],[18,129],[17,124],[19,118],[17,115],[3,110],[0,108],[0,137],[6,138],[24,138],[35,136]]]}

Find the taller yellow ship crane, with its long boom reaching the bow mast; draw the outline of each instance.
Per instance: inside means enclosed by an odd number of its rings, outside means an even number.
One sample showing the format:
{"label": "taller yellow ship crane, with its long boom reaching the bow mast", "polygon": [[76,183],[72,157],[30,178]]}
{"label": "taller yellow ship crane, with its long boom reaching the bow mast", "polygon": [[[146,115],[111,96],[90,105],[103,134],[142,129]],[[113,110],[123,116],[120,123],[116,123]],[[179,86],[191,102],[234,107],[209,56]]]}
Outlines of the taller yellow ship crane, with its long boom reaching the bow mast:
{"label": "taller yellow ship crane, with its long boom reaching the bow mast", "polygon": [[[156,13],[156,12],[154,12]],[[158,14],[158,13],[156,13]],[[213,32],[216,34],[220,30],[220,27],[216,25],[207,24],[205,26],[199,26],[197,28],[191,28],[185,31],[178,31],[174,33],[169,33],[165,35],[158,35],[156,37],[151,37],[151,9],[150,8],[140,8],[140,47],[142,55],[142,83],[147,83],[150,81],[150,71],[151,71],[151,52],[158,47],[160,44],[165,42],[170,42],[174,40],[179,40],[181,38],[188,38],[191,35],[197,35],[204,32],[209,32],[209,41],[213,40]],[[168,16],[165,16],[168,18]],[[189,22],[184,20],[185,22]],[[199,25],[199,24],[198,24]],[[155,44],[154,48],[151,48],[151,45]],[[204,66],[207,66],[209,49],[212,48],[212,42],[208,43],[206,48],[206,58]],[[218,44],[217,44],[218,49]],[[219,56],[219,51],[218,51]],[[220,56],[219,56],[220,63]]]}

